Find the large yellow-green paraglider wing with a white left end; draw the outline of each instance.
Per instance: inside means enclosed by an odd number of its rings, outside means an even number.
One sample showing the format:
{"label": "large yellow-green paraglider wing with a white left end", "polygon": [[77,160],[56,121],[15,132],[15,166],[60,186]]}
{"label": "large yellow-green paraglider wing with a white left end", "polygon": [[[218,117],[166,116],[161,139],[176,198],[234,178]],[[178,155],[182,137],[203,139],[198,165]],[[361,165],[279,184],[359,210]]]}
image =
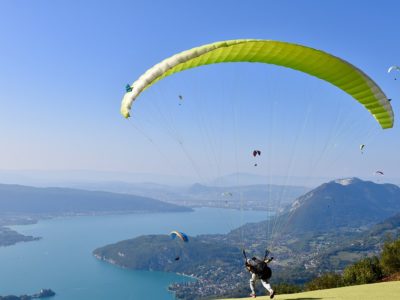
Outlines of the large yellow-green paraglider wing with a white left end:
{"label": "large yellow-green paraglider wing with a white left end", "polygon": [[360,102],[382,128],[393,127],[393,110],[387,97],[368,75],[336,56],[310,47],[269,40],[216,42],[175,54],[147,70],[122,100],[128,118],[133,101],[157,81],[174,73],[223,62],[258,62],[295,69],[342,89]]}

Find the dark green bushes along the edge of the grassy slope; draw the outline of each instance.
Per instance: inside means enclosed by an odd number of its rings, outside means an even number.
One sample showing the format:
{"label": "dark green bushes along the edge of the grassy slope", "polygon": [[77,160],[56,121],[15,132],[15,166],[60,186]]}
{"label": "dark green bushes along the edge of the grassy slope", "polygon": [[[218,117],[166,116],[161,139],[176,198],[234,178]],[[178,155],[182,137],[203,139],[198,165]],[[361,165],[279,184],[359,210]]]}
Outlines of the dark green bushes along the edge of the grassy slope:
{"label": "dark green bushes along the edge of the grassy slope", "polygon": [[364,258],[344,269],[342,274],[326,273],[310,282],[306,291],[374,283],[400,272],[400,239],[388,239],[377,256]]}

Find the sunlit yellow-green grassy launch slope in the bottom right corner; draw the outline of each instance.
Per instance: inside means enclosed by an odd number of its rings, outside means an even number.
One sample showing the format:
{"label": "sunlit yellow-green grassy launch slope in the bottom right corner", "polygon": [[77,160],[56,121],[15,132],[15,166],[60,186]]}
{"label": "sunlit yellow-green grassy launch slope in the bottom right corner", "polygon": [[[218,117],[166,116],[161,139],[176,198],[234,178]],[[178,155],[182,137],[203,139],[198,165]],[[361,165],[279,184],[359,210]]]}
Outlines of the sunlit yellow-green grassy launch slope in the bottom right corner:
{"label": "sunlit yellow-green grassy launch slope in the bottom right corner", "polygon": [[[269,297],[257,297],[256,299],[267,300]],[[349,286],[329,290],[319,290],[290,295],[277,295],[274,300],[297,299],[297,300],[398,300],[400,299],[400,281],[374,283],[365,285]]]}

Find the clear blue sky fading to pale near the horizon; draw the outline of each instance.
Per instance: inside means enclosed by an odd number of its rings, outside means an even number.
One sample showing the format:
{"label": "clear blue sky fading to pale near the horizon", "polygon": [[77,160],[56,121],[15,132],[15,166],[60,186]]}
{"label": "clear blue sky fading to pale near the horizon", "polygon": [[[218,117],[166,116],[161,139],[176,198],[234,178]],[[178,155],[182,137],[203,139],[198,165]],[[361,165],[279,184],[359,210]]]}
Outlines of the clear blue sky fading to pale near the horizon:
{"label": "clear blue sky fading to pale near the horizon", "polygon": [[[400,183],[398,126],[381,131],[348,95],[268,65],[216,65],[146,91],[119,114],[126,83],[176,52],[260,38],[325,50],[393,98],[398,1],[0,2],[0,169],[193,176],[373,177]],[[178,95],[184,96],[179,106]],[[398,123],[398,122],[397,122]],[[367,143],[360,155],[358,146]],[[249,155],[261,148],[254,168]],[[399,179],[399,180],[398,180]]]}

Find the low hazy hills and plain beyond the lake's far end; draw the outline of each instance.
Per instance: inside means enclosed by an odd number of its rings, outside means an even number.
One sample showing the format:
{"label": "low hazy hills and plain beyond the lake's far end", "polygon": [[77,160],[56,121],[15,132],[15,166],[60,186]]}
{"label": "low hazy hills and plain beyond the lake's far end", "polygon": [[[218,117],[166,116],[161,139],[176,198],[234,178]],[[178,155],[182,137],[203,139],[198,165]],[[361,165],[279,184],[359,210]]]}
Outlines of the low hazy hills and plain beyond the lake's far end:
{"label": "low hazy hills and plain beyond the lake's far end", "polygon": [[77,184],[74,187],[140,195],[185,206],[263,210],[283,208],[309,190],[302,186],[266,184],[222,187],[200,183],[188,186],[169,186],[151,182],[97,182]]}

